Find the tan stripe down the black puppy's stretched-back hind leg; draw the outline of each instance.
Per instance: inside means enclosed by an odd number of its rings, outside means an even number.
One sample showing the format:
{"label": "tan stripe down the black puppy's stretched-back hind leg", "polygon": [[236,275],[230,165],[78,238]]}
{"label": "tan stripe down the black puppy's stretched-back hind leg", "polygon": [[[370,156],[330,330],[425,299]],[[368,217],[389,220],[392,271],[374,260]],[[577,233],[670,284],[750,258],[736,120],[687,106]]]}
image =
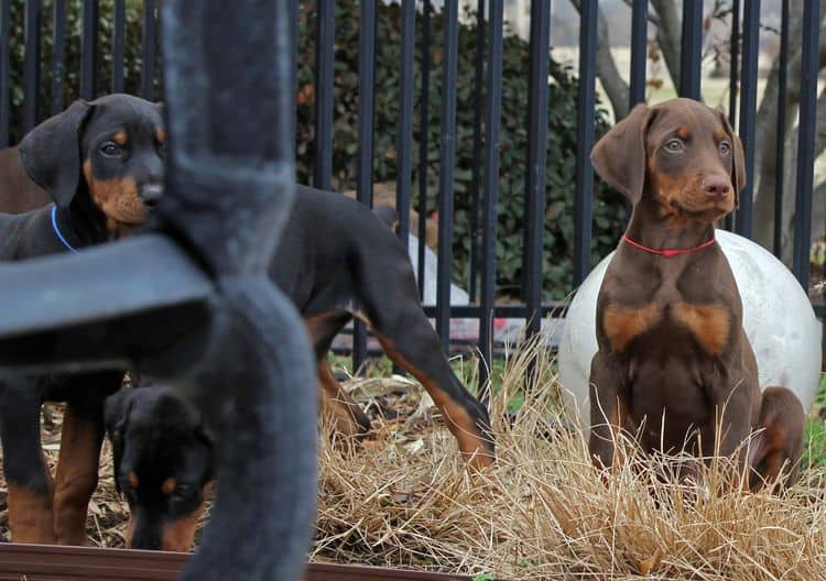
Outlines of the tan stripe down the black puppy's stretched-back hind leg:
{"label": "tan stripe down the black puppy's stretched-back hind leg", "polygon": [[379,333],[376,328],[373,328],[373,333],[376,333],[388,357],[419,380],[424,388],[427,390],[427,393],[431,394],[433,403],[436,404],[436,407],[445,418],[447,428],[458,441],[461,454],[469,459],[470,468],[479,469],[492,465],[493,457],[490,453],[490,446],[467,409],[448,396],[439,384],[407,361],[395,349],[390,339]]}

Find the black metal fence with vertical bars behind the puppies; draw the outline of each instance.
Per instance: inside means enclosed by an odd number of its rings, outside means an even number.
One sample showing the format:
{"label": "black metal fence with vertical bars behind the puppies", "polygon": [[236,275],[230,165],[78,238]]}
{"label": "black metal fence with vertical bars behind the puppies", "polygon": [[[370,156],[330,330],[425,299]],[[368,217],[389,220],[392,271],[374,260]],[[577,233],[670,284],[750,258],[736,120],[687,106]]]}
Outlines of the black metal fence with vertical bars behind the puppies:
{"label": "black metal fence with vertical bars behind the puppies", "polygon": [[[292,13],[302,10],[315,10],[315,157],[313,167],[313,184],[320,188],[330,188],[333,152],[335,147],[335,37],[336,4],[333,0],[317,0],[317,2],[300,2],[292,0]],[[66,80],[66,63],[63,45],[66,42],[66,30],[63,25],[67,4],[81,3],[81,58],[79,87],[77,95],[91,98],[98,92],[108,90],[119,91],[124,88],[123,47],[124,47],[124,0],[113,0],[111,24],[111,79],[97,78],[98,65],[105,56],[99,50],[99,8],[98,0],[26,0],[25,2],[0,0],[0,144],[8,144],[10,136],[10,120],[20,114],[23,129],[31,128],[37,120],[64,107],[61,85]],[[381,3],[381,0],[379,0]],[[575,172],[575,240],[573,256],[543,256],[542,237],[545,227],[545,199],[548,185],[546,183],[546,152],[548,141],[547,130],[547,90],[548,61],[551,45],[552,7],[548,0],[532,0],[530,2],[530,62],[526,63],[524,74],[530,79],[529,107],[524,112],[524,123],[528,133],[528,146],[524,151],[524,246],[523,246],[523,286],[521,304],[497,304],[496,289],[496,241],[499,198],[499,132],[501,121],[501,97],[503,90],[502,55],[503,55],[503,0],[478,0],[476,12],[468,17],[476,20],[477,46],[472,55],[459,54],[457,34],[459,30],[459,6],[456,1],[439,3],[436,8],[431,0],[402,0],[400,9],[401,35],[399,67],[400,83],[400,116],[396,139],[396,208],[400,216],[399,237],[405,243],[412,230],[419,235],[419,282],[420,290],[424,284],[424,253],[425,253],[425,220],[427,210],[438,210],[438,270],[436,281],[436,305],[427,306],[428,315],[435,318],[436,329],[445,349],[449,346],[450,318],[478,318],[478,348],[486,361],[491,358],[491,320],[493,317],[524,318],[529,321],[529,332],[540,329],[541,318],[552,310],[562,313],[564,305],[543,302],[542,270],[548,260],[573,262],[573,282],[578,285],[590,271],[591,264],[591,212],[594,198],[594,173],[588,154],[594,144],[594,110],[596,95],[596,55],[598,47],[599,4],[596,0],[576,2],[579,9],[579,51],[578,51],[578,113],[577,113],[577,163]],[[646,51],[648,39],[652,35],[648,30],[652,14],[649,13],[646,1],[634,0],[632,3],[632,26],[628,45],[630,47],[629,100],[634,105],[644,99],[646,89]],[[444,4],[444,6],[442,6]],[[376,58],[376,26],[377,0],[360,0],[359,7],[359,65],[358,65],[358,119],[359,139],[357,157],[357,197],[370,205],[373,195],[373,116],[374,116],[374,58]],[[680,3],[677,2],[677,6]],[[41,37],[41,19],[44,11],[51,10],[53,22],[53,51],[51,62],[42,62],[40,47],[44,39]],[[707,22],[704,20],[703,2],[686,0],[682,2],[682,48],[680,56],[680,76],[675,79],[678,94],[685,97],[700,96],[703,76],[703,34]],[[25,59],[23,69],[24,99],[22,110],[12,110],[11,69],[10,69],[10,22],[13,11],[24,11],[25,20]],[[156,30],[157,2],[144,0],[142,2],[142,64],[140,94],[144,97],[156,96],[155,84],[157,74]],[[434,10],[443,11],[444,36],[436,39],[432,34],[431,20]],[[756,116],[758,94],[758,56],[761,7],[759,0],[731,2],[731,14],[728,19],[730,26],[730,80],[729,80],[729,116],[732,125],[738,128],[746,151],[747,172],[753,174],[756,156]],[[742,12],[742,14],[741,14]],[[48,15],[48,14],[46,14]],[[416,23],[416,21],[419,21]],[[297,18],[295,19],[297,28]],[[781,54],[787,55],[790,45],[790,11],[789,0],[782,1],[782,19],[778,30]],[[415,44],[416,25],[421,32],[421,43]],[[792,168],[785,158],[782,140],[774,152],[778,166],[775,196],[775,228],[774,252],[781,252],[781,224],[783,197],[795,196],[795,228],[793,272],[804,288],[809,286],[809,241],[813,231],[813,196],[814,196],[814,162],[815,162],[815,125],[816,98],[818,76],[818,37],[820,14],[818,2],[805,2],[805,13],[802,20],[802,54],[800,68],[782,66],[776,87],[765,90],[778,91],[776,122],[780,134],[785,132],[787,123],[786,102],[789,101],[789,75],[800,75],[800,112],[797,133],[796,167]],[[46,40],[48,41],[48,40]],[[413,139],[414,116],[419,114],[421,127],[428,127],[428,79],[431,58],[421,59],[421,83],[414,83],[415,52],[423,55],[438,47],[442,74],[442,102],[439,143],[428,143],[427,132],[422,131],[419,143]],[[227,47],[231,50],[231,47]],[[471,304],[467,306],[450,306],[450,283],[455,278],[452,262],[452,241],[454,233],[454,164],[455,145],[457,139],[456,127],[456,90],[457,61],[472,58],[476,68],[476,83],[472,87],[474,99],[474,186],[467,194],[471,197],[470,207],[470,265],[467,281]],[[40,73],[45,67],[52,70],[54,89],[48,107],[39,102]],[[295,86],[295,84],[294,84]],[[297,88],[297,86],[296,86]],[[297,91],[296,91],[297,94]],[[739,116],[737,114],[739,111]],[[413,166],[413,153],[419,146],[419,167]],[[438,147],[438,201],[435,208],[427,208],[427,153]],[[784,191],[784,172],[795,172],[796,179],[793,191]],[[740,207],[729,217],[726,227],[746,237],[752,235],[753,217],[753,179],[749,180],[746,191],[740,196]],[[416,198],[414,199],[414,194]],[[419,210],[419,223],[410,223],[409,209]],[[816,230],[826,224],[816,224]],[[477,292],[478,289],[478,292]],[[826,315],[826,305],[815,305],[819,317]],[[354,362],[358,365],[365,358],[365,329],[357,324],[354,333]],[[483,368],[483,366],[482,366]],[[485,373],[485,371],[482,372]],[[482,377],[483,379],[483,377]]]}

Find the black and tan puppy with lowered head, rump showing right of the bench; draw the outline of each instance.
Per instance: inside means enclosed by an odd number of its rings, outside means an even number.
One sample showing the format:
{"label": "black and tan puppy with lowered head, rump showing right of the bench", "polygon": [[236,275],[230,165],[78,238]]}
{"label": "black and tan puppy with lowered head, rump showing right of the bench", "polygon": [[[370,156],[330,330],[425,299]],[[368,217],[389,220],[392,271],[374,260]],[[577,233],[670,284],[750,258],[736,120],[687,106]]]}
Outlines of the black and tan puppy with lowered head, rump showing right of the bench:
{"label": "black and tan puppy with lowered head, rump showing right of the bench", "polygon": [[[304,318],[315,347],[322,409],[339,431],[355,436],[370,428],[327,363],[334,337],[358,317],[388,357],[424,385],[470,464],[493,461],[488,413],[450,370],[422,310],[404,245],[367,207],[298,186],[270,276]],[[155,390],[127,390],[107,404],[107,429],[119,458],[116,478],[122,489],[132,489],[127,493],[130,546],[187,550],[196,504],[211,479],[202,461],[208,430],[194,413],[186,415],[188,424],[170,429],[163,418],[172,415],[162,410],[174,407],[169,399],[175,396],[152,394]],[[163,454],[169,461],[159,462]]]}

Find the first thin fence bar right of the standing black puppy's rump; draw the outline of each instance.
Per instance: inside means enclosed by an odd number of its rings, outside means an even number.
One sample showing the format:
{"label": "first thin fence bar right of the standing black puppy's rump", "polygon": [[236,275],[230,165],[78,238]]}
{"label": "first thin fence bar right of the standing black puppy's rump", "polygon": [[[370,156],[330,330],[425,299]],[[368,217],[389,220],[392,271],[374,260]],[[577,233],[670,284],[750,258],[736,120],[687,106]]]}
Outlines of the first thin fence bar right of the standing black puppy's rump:
{"label": "first thin fence bar right of the standing black puppy's rump", "polygon": [[420,106],[419,136],[419,297],[424,300],[424,260],[427,239],[427,155],[431,107],[431,0],[424,0],[422,7],[422,99]]}

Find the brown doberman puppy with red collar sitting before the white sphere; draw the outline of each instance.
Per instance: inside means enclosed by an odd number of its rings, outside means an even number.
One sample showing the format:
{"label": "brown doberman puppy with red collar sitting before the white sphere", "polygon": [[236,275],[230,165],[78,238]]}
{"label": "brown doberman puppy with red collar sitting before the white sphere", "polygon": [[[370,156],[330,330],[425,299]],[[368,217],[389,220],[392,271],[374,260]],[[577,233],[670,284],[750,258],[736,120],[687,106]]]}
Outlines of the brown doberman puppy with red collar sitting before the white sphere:
{"label": "brown doberman puppy with red collar sitting before the white sphere", "polygon": [[741,458],[750,486],[781,470],[793,481],[803,406],[785,387],[761,394],[737,284],[715,241],[715,221],[746,184],[742,145],[726,116],[689,99],[640,105],[591,160],[634,206],[597,299],[595,461],[616,460],[619,430],[646,451],[685,447],[703,457],[732,454],[761,430]]}

